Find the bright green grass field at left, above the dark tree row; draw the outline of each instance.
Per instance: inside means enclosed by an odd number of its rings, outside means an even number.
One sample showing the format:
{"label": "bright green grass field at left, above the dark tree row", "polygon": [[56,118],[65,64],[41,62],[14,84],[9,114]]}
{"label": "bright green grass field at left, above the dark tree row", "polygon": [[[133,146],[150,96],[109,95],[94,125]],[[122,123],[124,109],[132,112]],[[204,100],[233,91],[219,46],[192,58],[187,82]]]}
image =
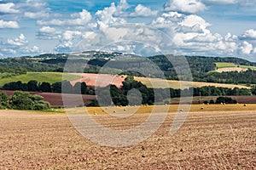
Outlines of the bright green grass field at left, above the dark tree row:
{"label": "bright green grass field at left, above the dark tree row", "polygon": [[[49,82],[51,84],[54,82],[61,82],[62,76],[63,76],[63,73],[61,72],[27,72],[24,75],[1,78],[0,87],[3,87],[5,83],[9,83],[9,82],[20,81],[25,83],[31,80],[36,80],[38,82]],[[65,76],[65,79],[67,81],[76,80],[79,78],[80,78],[79,76],[74,76],[74,75]]]}

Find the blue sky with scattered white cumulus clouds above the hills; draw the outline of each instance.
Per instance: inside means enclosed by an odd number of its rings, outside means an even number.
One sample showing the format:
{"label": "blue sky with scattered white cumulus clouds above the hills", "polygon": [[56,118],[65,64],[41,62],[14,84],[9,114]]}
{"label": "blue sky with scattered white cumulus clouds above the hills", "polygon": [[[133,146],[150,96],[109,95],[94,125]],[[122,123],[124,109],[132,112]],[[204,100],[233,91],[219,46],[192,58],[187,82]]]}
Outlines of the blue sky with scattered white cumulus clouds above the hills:
{"label": "blue sky with scattered white cumulus clouds above the hills", "polygon": [[256,0],[0,0],[0,58],[89,50],[256,61]]}

